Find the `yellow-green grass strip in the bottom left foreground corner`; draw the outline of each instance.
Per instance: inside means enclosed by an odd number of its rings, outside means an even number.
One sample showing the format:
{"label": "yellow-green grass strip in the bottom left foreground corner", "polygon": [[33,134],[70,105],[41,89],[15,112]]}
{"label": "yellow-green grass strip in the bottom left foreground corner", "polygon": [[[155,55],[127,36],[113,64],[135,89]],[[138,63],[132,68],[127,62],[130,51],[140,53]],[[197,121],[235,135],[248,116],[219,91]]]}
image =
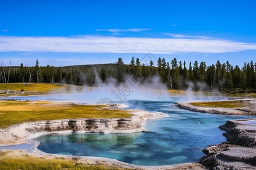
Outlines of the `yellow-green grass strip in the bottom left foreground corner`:
{"label": "yellow-green grass strip in the bottom left foreground corner", "polygon": [[61,160],[61,159],[44,159],[44,158],[13,158],[5,157],[0,159],[0,169],[91,169],[91,170],[103,170],[103,169],[121,169],[121,168],[110,168],[102,165],[85,165],[82,163],[75,163],[72,160]]}

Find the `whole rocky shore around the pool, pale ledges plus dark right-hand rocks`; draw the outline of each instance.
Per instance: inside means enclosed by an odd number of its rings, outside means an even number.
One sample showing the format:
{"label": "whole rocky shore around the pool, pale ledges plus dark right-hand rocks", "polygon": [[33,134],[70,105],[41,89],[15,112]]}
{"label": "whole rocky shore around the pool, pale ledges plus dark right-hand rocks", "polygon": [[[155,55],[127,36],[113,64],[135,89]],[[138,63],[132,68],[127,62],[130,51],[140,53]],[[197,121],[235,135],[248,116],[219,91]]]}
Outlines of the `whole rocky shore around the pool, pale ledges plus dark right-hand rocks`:
{"label": "whole rocky shore around the pool, pale ledges plus dark right-hand rocks", "polygon": [[[110,108],[113,107],[118,108],[118,106],[110,106]],[[168,115],[159,112],[149,113],[133,110],[133,116],[130,118],[84,118],[23,123],[10,126],[7,129],[0,129],[0,146],[28,143],[31,142],[32,138],[47,134],[133,133],[146,130],[143,128],[146,120],[161,117],[168,117]],[[206,155],[200,159],[200,163],[144,167],[108,158],[47,154],[38,150],[39,143],[34,141],[32,142],[34,148],[30,151],[15,150],[7,152],[14,156],[22,156],[26,153],[31,157],[65,158],[76,160],[77,163],[94,165],[100,163],[106,167],[131,169],[256,169],[256,119],[227,121],[220,128],[226,131],[224,135],[228,142],[205,148],[203,152]],[[5,152],[5,150],[0,152]]]}

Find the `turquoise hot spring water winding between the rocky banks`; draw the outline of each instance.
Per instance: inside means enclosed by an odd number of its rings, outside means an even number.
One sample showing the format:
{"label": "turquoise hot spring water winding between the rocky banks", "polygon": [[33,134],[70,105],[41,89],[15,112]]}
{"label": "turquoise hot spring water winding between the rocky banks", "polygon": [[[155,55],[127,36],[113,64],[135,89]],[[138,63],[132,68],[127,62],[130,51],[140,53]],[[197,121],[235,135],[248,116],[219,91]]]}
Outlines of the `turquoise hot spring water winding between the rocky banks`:
{"label": "turquoise hot spring water winding between the rocky banks", "polygon": [[185,111],[167,101],[129,101],[129,109],[167,113],[146,122],[147,131],[131,134],[47,135],[36,138],[39,150],[51,154],[99,156],[137,165],[197,162],[208,145],[226,141],[218,126],[227,120],[250,118]]}

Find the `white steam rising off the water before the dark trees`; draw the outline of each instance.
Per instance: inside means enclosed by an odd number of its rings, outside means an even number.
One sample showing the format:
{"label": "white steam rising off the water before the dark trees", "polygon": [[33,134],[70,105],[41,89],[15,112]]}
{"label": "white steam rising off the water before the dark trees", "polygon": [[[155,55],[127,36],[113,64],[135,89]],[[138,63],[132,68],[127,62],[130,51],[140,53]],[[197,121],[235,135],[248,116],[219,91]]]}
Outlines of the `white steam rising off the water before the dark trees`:
{"label": "white steam rising off the water before the dark trees", "polygon": [[185,94],[172,95],[168,92],[166,84],[161,82],[159,76],[153,76],[147,79],[135,79],[133,76],[126,76],[125,82],[123,83],[118,83],[117,79],[114,78],[108,78],[105,82],[102,82],[96,71],[94,86],[96,87],[84,86],[81,90],[77,90],[76,86],[72,86],[73,88],[71,90],[56,91],[56,94],[52,95],[16,96],[10,97],[10,99],[72,101],[84,104],[105,104],[105,101],[108,101],[108,103],[125,103],[128,105],[130,100],[171,102],[226,100],[216,90],[214,91],[214,96],[205,96],[202,91],[208,87],[203,83],[197,83],[195,85],[199,89],[196,94],[193,92],[195,88],[194,84],[188,82],[189,87]]}

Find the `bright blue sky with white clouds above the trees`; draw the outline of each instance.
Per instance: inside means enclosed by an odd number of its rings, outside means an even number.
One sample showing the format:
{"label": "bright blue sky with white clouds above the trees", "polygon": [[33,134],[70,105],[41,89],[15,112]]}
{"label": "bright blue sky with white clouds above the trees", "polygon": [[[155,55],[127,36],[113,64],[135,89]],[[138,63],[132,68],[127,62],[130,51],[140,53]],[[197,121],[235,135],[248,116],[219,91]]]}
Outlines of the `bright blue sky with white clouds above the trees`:
{"label": "bright blue sky with white clouds above the trees", "polygon": [[256,62],[256,1],[1,1],[5,65]]}

